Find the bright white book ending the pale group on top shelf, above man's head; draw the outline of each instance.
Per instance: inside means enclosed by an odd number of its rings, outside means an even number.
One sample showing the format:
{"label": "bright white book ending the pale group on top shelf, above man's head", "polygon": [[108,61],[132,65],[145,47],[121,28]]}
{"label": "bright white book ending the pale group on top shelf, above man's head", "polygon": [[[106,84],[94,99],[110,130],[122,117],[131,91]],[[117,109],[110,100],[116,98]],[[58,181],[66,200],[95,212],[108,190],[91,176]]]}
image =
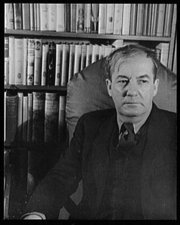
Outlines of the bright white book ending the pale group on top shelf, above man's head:
{"label": "bright white book ending the pale group on top shelf, above man's head", "polygon": [[122,35],[129,35],[131,4],[124,4]]}

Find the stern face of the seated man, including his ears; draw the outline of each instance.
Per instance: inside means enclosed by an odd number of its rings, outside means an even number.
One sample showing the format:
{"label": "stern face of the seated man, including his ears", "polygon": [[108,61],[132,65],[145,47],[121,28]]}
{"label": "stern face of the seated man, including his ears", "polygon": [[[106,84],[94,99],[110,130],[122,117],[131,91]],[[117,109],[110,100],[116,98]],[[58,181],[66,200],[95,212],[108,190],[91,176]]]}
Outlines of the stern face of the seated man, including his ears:
{"label": "stern face of the seated man, including his ears", "polygon": [[145,55],[118,61],[112,72],[112,80],[106,80],[108,93],[117,112],[125,117],[137,117],[150,112],[158,83],[159,80],[154,81],[153,62]]}

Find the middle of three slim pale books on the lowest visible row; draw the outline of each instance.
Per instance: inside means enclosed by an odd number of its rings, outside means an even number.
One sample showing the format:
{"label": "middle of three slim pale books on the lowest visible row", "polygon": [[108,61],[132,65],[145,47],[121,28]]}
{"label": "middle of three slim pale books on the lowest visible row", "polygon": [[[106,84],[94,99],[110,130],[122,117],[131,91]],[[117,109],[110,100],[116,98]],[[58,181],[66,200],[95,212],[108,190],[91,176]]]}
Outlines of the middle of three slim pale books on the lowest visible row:
{"label": "middle of three slim pale books on the lowest visible row", "polygon": [[22,140],[27,142],[27,121],[28,121],[28,105],[27,96],[23,96],[23,127],[22,127]]}

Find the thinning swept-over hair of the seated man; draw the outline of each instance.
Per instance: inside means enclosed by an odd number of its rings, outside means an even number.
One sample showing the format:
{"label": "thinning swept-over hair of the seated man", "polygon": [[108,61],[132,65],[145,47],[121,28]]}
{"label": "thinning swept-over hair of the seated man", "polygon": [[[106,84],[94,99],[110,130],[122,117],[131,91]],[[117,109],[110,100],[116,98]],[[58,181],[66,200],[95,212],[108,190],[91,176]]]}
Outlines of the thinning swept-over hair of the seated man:
{"label": "thinning swept-over hair of the seated man", "polygon": [[153,62],[153,74],[154,81],[156,80],[157,70],[159,67],[159,61],[156,58],[156,53],[151,49],[146,48],[141,45],[126,45],[124,47],[120,47],[113,51],[109,56],[106,57],[105,60],[105,76],[106,78],[111,80],[113,69],[117,61],[121,58],[122,61],[127,58],[131,58],[136,55],[145,54],[147,58],[151,58]]}

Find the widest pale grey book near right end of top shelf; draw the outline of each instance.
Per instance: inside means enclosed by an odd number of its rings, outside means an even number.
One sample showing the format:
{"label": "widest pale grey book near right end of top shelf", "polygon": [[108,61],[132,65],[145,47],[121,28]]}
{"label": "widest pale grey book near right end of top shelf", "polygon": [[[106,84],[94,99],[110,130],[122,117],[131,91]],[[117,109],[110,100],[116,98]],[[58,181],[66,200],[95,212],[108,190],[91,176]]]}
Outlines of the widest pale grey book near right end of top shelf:
{"label": "widest pale grey book near right end of top shelf", "polygon": [[159,4],[156,36],[163,36],[165,6],[166,6],[165,4]]}

